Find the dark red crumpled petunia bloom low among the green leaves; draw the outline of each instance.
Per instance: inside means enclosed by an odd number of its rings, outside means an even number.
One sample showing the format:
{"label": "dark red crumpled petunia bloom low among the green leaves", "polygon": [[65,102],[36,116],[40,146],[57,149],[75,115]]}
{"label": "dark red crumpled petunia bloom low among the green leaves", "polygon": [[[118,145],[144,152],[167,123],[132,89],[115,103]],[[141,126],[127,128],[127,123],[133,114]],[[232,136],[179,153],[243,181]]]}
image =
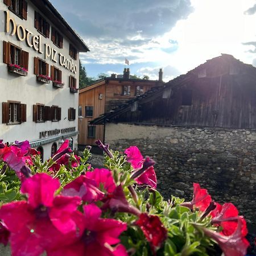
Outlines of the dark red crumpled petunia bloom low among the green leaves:
{"label": "dark red crumpled petunia bloom low among the green leaves", "polygon": [[142,229],[147,241],[159,247],[167,239],[167,229],[164,228],[158,216],[142,213],[136,224]]}

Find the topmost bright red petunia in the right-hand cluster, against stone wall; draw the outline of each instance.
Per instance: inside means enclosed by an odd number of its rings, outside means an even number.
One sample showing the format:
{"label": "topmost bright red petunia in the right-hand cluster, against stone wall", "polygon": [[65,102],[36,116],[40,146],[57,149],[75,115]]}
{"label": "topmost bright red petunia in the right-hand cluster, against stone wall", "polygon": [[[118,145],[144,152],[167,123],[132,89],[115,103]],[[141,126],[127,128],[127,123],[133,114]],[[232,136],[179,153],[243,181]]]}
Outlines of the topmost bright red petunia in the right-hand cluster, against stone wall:
{"label": "topmost bright red petunia in the right-hand cluster, against stone wall", "polygon": [[193,183],[193,188],[192,201],[182,203],[181,206],[193,209],[193,205],[195,205],[201,212],[204,212],[208,208],[212,198],[208,195],[207,189],[200,188],[199,184]]}

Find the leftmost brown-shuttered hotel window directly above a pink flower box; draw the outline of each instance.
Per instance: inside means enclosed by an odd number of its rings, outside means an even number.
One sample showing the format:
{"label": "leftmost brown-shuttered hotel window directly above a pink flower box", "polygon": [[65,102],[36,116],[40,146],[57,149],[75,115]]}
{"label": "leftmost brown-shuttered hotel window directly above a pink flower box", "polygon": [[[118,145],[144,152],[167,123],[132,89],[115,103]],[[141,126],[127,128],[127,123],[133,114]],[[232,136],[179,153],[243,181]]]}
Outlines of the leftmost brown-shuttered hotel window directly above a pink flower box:
{"label": "leftmost brown-shuttered hotel window directly above a pink flower box", "polygon": [[19,65],[28,70],[28,52],[18,46],[3,41],[3,63]]}

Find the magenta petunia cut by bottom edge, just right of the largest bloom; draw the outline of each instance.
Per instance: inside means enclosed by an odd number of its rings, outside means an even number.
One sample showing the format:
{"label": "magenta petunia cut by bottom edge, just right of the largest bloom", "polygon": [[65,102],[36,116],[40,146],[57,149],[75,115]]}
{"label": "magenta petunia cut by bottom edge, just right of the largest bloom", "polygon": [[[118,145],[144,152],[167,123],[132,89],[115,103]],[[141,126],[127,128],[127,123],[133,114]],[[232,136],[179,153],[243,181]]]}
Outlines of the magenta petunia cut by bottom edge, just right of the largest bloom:
{"label": "magenta petunia cut by bottom edge, just right of the largest bloom", "polygon": [[68,246],[48,250],[48,256],[127,256],[118,236],[127,229],[127,224],[109,218],[100,218],[101,210],[96,205],[84,206],[84,214],[77,214],[79,234],[76,241]]}

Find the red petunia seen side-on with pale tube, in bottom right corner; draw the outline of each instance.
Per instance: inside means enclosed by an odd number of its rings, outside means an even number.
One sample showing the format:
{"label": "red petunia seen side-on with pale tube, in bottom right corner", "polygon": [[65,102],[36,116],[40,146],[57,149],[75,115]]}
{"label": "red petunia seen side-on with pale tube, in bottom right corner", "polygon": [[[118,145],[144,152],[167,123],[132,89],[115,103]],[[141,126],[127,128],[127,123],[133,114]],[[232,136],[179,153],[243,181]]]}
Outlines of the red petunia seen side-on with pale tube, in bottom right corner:
{"label": "red petunia seen side-on with pale tube, in bottom right corner", "polygon": [[203,228],[203,231],[208,237],[218,243],[225,256],[244,256],[249,242],[243,237],[241,227],[242,221],[238,218],[237,229],[231,236],[221,236],[220,233],[206,228]]}

